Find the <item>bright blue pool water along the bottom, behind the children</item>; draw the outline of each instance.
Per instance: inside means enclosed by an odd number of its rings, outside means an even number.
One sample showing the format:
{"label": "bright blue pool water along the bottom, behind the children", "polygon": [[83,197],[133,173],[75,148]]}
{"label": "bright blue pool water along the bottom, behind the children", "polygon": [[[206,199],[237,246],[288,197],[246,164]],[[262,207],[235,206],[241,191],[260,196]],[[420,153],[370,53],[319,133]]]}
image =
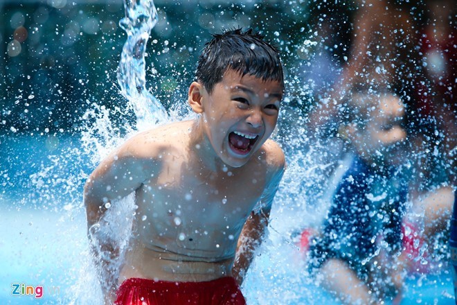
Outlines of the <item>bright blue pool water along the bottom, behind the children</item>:
{"label": "bright blue pool water along the bottom, behind the children", "polygon": [[[1,138],[0,304],[95,304],[99,297],[82,207],[90,162],[78,137],[49,138]],[[242,287],[248,304],[339,304],[301,272],[296,247],[281,233],[288,205],[276,202],[271,214],[269,240]],[[44,297],[13,296],[12,283],[43,286]],[[409,279],[402,304],[455,304],[446,264],[439,275]]]}

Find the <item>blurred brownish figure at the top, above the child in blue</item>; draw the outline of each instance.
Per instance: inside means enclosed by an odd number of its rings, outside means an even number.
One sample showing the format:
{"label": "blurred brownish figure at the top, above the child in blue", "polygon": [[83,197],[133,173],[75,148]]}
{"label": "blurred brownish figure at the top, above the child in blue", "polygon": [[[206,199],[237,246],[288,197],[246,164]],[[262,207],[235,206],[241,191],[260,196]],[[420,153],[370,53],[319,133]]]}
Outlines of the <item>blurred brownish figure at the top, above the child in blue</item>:
{"label": "blurred brownish figure at the top, above the child in blue", "polygon": [[326,88],[316,111],[310,114],[311,133],[318,126],[319,134],[322,128],[335,127],[332,118],[337,117],[334,114],[341,98],[350,92],[353,84],[386,87],[404,103],[410,103],[421,64],[419,53],[414,51],[417,26],[409,12],[409,6],[395,1],[355,1],[352,39],[349,46],[340,46],[349,49],[348,56],[343,57],[339,77]]}

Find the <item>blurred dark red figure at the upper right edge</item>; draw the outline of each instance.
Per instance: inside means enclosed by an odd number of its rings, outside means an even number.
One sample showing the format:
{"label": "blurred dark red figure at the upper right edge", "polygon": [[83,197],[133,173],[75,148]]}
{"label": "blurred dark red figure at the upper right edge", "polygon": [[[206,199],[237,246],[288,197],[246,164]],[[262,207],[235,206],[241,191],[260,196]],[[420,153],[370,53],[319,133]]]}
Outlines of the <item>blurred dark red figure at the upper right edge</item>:
{"label": "blurred dark red figure at the upper right edge", "polygon": [[[422,56],[424,80],[417,82],[417,109],[420,119],[433,122],[436,136],[443,141],[451,168],[456,159],[457,116],[457,2],[427,0],[426,21],[420,30],[418,48]],[[455,179],[455,170],[451,173]],[[455,184],[454,184],[455,185]]]}

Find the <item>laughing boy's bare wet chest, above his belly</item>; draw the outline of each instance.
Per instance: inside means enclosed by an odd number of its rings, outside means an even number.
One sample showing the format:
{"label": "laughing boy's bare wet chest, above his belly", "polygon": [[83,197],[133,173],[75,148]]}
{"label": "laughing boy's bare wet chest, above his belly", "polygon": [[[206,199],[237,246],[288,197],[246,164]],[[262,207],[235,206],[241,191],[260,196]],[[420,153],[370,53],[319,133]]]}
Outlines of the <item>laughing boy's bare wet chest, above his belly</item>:
{"label": "laughing boy's bare wet chest, above his belly", "polygon": [[181,168],[164,171],[148,181],[137,199],[144,208],[149,206],[161,216],[177,216],[181,222],[217,223],[224,218],[247,216],[264,188],[265,175],[260,171],[247,177],[230,171],[199,173]]}

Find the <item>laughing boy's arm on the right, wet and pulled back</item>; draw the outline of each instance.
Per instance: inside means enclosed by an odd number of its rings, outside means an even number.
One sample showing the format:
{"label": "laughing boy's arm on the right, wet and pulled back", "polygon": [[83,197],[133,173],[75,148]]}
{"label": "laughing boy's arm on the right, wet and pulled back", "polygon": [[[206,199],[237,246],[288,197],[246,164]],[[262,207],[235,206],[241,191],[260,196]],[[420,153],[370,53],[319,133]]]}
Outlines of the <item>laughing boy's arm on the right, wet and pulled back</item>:
{"label": "laughing boy's arm on the right, wet and pulled back", "polygon": [[[280,150],[279,147],[278,149]],[[246,220],[246,223],[244,223],[240,238],[238,238],[232,275],[240,286],[249,265],[251,265],[254,256],[256,256],[256,250],[260,247],[263,238],[265,238],[271,204],[273,203],[274,195],[278,191],[279,183],[285,171],[285,159],[282,150],[280,150],[278,155],[280,155],[280,158],[278,158],[278,164],[275,166],[274,175],[265,189],[262,198],[260,198],[260,209],[258,211],[251,211],[251,215]]]}

